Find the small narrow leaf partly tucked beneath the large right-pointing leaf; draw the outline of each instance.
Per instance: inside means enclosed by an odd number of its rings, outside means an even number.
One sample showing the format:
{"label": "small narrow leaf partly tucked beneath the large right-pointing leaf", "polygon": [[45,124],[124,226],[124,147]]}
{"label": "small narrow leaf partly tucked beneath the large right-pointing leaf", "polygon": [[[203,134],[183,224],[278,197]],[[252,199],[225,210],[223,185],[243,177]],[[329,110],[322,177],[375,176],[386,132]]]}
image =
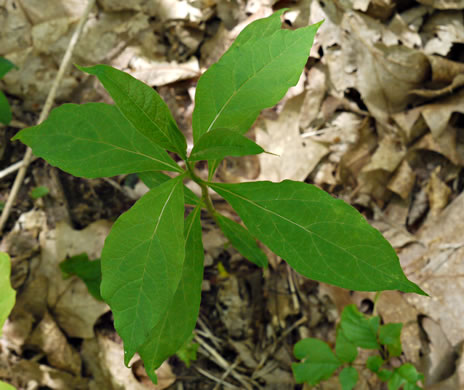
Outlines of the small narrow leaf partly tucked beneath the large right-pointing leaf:
{"label": "small narrow leaf partly tucked beneath the large right-pointing leaf", "polygon": [[258,267],[267,267],[267,256],[248,230],[221,214],[216,214],[216,219],[222,232],[235,249]]}

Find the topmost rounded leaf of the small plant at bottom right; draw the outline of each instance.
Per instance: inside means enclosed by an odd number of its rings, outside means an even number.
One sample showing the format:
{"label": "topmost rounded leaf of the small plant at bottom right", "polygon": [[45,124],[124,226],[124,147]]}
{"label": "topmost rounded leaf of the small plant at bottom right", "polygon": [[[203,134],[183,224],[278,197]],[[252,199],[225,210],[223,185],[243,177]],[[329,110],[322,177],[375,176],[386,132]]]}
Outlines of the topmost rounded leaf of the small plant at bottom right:
{"label": "topmost rounded leaf of the small plant at bottom right", "polygon": [[347,305],[343,309],[340,327],[345,337],[358,347],[378,349],[377,331],[380,325],[378,316],[366,318],[356,305]]}

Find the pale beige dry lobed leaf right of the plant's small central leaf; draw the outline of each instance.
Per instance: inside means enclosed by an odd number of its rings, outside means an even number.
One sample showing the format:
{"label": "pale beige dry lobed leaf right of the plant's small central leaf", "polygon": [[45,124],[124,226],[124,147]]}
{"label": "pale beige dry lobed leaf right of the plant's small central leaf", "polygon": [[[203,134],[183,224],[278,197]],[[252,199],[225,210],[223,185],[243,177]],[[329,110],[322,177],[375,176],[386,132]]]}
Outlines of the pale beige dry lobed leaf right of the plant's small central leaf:
{"label": "pale beige dry lobed leaf right of the plant's small central leaf", "polygon": [[256,127],[256,142],[264,150],[277,154],[260,154],[261,172],[258,180],[304,180],[328,153],[328,148],[310,139],[303,139],[299,130],[300,95],[287,102],[276,121],[263,119]]}

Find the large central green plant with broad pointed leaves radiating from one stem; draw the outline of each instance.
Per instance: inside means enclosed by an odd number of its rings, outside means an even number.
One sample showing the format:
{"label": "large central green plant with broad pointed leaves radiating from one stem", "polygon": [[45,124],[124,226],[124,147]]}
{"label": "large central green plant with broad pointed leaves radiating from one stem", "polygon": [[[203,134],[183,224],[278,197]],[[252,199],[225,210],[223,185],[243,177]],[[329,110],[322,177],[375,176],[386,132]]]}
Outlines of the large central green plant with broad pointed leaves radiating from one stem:
{"label": "large central green plant with broad pointed leaves radiating from one stem", "polygon": [[[354,208],[317,187],[290,180],[212,181],[224,157],[263,152],[244,134],[262,109],[275,105],[297,83],[306,65],[320,23],[284,30],[283,12],[247,26],[200,78],[190,155],[160,96],[106,65],[80,69],[97,76],[115,105],[64,104],[42,124],[14,137],[73,175],[140,173],[151,188],[119,217],[106,239],[101,296],[124,341],[126,365],[138,352],[153,381],[154,370],[195,327],[203,277],[202,208],[258,266],[266,266],[267,258],[256,239],[311,279],[354,290],[424,294],[406,278],[382,235]],[[186,169],[165,149],[184,160]],[[199,160],[208,161],[207,181],[195,170]],[[171,178],[159,171],[178,175]],[[185,179],[200,186],[201,198],[183,185]],[[232,205],[246,228],[214,209],[209,189]],[[185,221],[184,204],[194,206]]]}

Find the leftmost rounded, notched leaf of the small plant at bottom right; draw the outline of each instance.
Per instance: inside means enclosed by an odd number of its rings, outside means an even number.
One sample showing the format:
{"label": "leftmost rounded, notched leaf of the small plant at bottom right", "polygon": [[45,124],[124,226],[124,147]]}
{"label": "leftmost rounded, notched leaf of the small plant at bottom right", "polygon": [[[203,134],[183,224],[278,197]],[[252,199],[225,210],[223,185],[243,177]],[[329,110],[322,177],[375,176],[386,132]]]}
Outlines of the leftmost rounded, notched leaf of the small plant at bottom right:
{"label": "leftmost rounded, notched leaf of the small plant at bottom right", "polygon": [[316,385],[330,378],[342,364],[330,347],[319,339],[307,338],[298,341],[294,347],[295,357],[303,363],[293,363],[296,383],[307,382]]}

